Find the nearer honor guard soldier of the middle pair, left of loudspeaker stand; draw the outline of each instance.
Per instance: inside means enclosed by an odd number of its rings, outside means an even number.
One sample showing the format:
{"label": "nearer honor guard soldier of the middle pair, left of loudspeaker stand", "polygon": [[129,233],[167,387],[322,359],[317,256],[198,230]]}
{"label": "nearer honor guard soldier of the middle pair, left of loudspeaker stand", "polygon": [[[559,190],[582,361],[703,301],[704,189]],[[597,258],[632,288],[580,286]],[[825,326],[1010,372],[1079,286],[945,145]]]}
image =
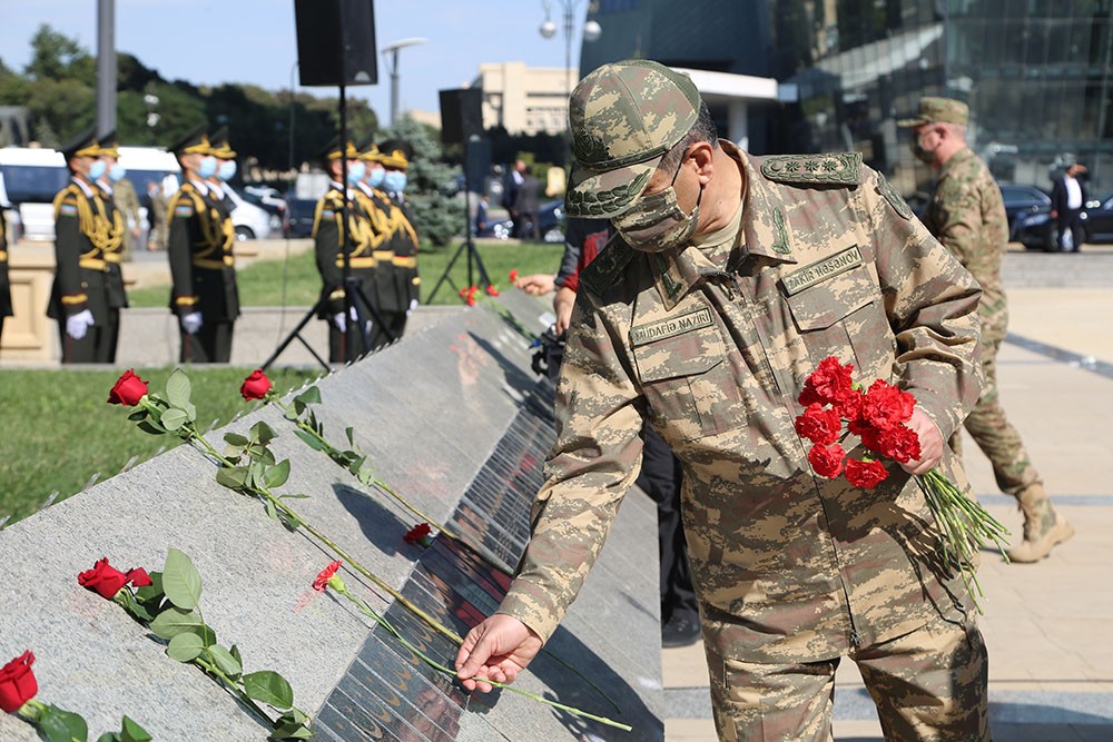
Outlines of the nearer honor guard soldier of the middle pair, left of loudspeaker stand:
{"label": "nearer honor guard soldier of the middle pair, left of loudspeaker stand", "polygon": [[181,336],[179,360],[227,363],[239,316],[239,293],[232,248],[235,231],[206,180],[217,170],[205,125],[170,148],[184,181],[167,209],[170,310]]}

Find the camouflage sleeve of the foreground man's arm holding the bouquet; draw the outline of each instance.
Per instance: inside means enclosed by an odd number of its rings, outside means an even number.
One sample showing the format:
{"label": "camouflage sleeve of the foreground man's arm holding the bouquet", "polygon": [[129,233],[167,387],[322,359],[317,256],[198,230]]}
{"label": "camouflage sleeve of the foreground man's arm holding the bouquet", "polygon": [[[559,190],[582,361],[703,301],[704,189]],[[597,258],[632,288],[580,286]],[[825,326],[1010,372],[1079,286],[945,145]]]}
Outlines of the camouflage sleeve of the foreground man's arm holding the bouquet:
{"label": "camouflage sleeve of the foreground man's arm holding the bouquet", "polygon": [[861,192],[896,336],[895,374],[947,439],[982,392],[982,290],[918,219],[897,212],[883,176],[868,170]]}

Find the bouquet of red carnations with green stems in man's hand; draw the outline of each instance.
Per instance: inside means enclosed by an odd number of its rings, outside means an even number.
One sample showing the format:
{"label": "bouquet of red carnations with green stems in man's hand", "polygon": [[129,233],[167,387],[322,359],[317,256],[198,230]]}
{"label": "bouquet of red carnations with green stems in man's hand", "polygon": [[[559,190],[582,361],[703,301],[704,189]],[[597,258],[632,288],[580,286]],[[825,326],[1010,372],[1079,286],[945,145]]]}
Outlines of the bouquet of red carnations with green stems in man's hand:
{"label": "bouquet of red carnations with green stems in man's hand", "polygon": [[[796,432],[812,444],[808,462],[816,474],[830,479],[844,474],[854,486],[873,489],[888,477],[888,469],[876,458],[847,457],[840,442],[853,434],[878,456],[900,464],[918,459],[919,436],[905,425],[912,418],[916,398],[881,379],[864,390],[854,383],[853,372],[854,366],[844,366],[834,357],[819,362],[800,392],[798,402],[805,409],[796,418]],[[958,566],[974,606],[981,613],[977,597],[983,593],[974,557],[979,548],[993,543],[1007,561],[1008,530],[937,468],[916,475],[916,483],[942,532],[944,558]]]}

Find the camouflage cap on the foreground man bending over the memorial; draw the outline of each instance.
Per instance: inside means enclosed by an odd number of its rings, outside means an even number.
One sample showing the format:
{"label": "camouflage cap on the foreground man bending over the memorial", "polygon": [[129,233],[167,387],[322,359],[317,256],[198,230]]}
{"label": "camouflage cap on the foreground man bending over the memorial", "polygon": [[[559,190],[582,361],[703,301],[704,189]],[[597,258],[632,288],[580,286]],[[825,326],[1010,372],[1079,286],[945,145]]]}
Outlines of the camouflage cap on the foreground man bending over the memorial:
{"label": "camouflage cap on the foreground man bending over the memorial", "polygon": [[572,175],[569,216],[610,218],[630,208],[661,158],[699,117],[687,75],[648,59],[603,65],[569,101]]}

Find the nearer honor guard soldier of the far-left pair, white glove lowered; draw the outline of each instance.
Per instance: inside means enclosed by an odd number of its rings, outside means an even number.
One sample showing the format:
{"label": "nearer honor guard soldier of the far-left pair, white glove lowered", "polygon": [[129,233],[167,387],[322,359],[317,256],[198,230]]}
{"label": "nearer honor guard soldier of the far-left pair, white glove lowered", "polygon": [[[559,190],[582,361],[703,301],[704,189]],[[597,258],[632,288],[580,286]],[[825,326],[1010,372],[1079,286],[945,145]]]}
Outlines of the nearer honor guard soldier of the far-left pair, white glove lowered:
{"label": "nearer honor guard soldier of the far-left pair, white glove lowered", "polygon": [[111,239],[107,206],[96,181],[105,174],[100,147],[89,129],[62,148],[70,182],[55,196],[55,284],[47,316],[58,320],[62,363],[108,360],[108,264]]}

